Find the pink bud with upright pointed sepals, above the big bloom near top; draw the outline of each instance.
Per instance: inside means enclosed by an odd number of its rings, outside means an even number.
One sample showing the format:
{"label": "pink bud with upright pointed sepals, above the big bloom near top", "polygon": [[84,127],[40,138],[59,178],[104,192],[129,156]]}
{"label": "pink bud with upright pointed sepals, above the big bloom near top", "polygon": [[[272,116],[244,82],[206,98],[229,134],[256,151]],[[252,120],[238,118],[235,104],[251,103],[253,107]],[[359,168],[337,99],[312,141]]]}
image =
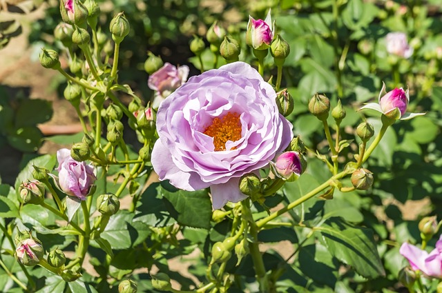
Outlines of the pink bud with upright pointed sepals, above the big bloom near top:
{"label": "pink bud with upright pointed sepals, above the big bloom near top", "polygon": [[256,50],[266,50],[273,40],[273,23],[271,23],[270,10],[265,20],[253,19],[249,16],[247,24],[246,43]]}

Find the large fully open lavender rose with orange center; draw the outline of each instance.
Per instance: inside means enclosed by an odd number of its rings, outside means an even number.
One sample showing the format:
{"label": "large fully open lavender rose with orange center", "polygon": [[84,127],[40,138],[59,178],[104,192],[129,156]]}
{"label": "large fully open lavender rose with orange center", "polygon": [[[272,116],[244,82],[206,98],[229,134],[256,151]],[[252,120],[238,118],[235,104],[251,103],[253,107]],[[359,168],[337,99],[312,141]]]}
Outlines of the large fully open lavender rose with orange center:
{"label": "large fully open lavender rose with orange center", "polygon": [[152,165],[176,188],[210,187],[213,208],[222,208],[246,197],[240,176],[284,150],[291,128],[271,85],[247,63],[230,63],[191,77],[161,103]]}

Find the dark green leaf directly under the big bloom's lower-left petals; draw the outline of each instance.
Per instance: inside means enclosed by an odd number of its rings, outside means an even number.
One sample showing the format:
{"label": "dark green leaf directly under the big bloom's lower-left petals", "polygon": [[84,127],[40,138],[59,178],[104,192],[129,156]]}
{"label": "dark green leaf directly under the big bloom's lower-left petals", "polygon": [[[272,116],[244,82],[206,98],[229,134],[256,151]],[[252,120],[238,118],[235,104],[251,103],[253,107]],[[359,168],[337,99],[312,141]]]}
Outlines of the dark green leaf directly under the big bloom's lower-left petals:
{"label": "dark green leaf directly under the big bloom's lower-left petals", "polygon": [[206,190],[171,192],[162,188],[161,193],[172,204],[172,216],[175,214],[178,223],[193,228],[210,228],[212,203]]}

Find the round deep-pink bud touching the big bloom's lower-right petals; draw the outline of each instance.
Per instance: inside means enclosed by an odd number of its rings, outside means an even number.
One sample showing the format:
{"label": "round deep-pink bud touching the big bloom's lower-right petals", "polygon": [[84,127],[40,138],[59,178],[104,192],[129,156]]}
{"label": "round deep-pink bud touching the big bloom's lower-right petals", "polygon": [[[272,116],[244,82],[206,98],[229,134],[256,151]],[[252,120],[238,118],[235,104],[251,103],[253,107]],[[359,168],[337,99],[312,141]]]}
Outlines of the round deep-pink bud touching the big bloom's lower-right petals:
{"label": "round deep-pink bud touching the big bloom's lower-right petals", "polygon": [[273,167],[282,179],[295,181],[302,174],[301,158],[298,152],[283,152],[278,156]]}

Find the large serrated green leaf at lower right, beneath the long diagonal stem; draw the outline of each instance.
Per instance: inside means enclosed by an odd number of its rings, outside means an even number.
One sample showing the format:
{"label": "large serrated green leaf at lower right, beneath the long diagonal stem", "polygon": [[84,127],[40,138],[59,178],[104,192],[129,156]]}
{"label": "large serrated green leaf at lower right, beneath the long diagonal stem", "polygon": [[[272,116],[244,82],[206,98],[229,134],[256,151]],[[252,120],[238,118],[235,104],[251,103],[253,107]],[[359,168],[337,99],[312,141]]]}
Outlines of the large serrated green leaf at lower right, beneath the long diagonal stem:
{"label": "large serrated green leaf at lower right, beneath the long diagonal stem", "polygon": [[385,276],[381,259],[376,250],[373,232],[345,222],[341,218],[330,218],[315,228],[329,252],[343,263],[369,279]]}

